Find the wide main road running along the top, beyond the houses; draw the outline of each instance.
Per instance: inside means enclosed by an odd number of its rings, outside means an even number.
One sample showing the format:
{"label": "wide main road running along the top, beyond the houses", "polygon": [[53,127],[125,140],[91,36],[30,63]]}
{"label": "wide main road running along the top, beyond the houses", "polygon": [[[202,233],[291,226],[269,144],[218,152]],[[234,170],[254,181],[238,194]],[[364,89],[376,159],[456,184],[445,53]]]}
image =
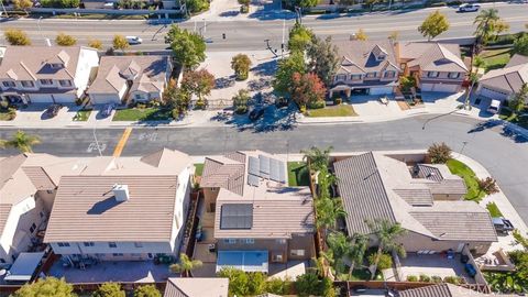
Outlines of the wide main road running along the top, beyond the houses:
{"label": "wide main road running along the top, beyond the houses", "polygon": [[[499,15],[509,23],[512,32],[522,31],[528,23],[528,4],[519,3],[485,3],[484,8],[495,7]],[[372,40],[386,38],[391,32],[397,31],[399,40],[422,40],[417,31],[418,25],[435,9],[414,11],[374,12],[354,15],[326,14],[305,16],[302,23],[311,28],[318,35],[331,35],[333,40],[346,40],[351,33],[363,29]],[[454,38],[471,36],[474,32],[475,12],[458,13],[455,8],[439,8],[451,23],[449,31],[437,38]],[[208,51],[260,51],[266,48],[265,40],[271,47],[280,48],[284,32],[294,24],[293,14],[260,12],[250,15],[249,20],[233,21],[226,19],[215,21],[186,21],[182,28],[201,32],[208,41]],[[54,40],[58,32],[72,34],[79,44],[88,44],[90,38],[101,40],[110,46],[114,34],[138,35],[143,44],[132,46],[138,51],[155,51],[165,48],[164,35],[168,26],[147,24],[144,21],[102,21],[102,20],[13,20],[0,23],[0,29],[22,29],[29,33],[34,44],[44,44],[44,38]],[[40,28],[40,29],[38,29]],[[226,40],[222,34],[226,33]],[[285,36],[287,40],[287,36]]]}

